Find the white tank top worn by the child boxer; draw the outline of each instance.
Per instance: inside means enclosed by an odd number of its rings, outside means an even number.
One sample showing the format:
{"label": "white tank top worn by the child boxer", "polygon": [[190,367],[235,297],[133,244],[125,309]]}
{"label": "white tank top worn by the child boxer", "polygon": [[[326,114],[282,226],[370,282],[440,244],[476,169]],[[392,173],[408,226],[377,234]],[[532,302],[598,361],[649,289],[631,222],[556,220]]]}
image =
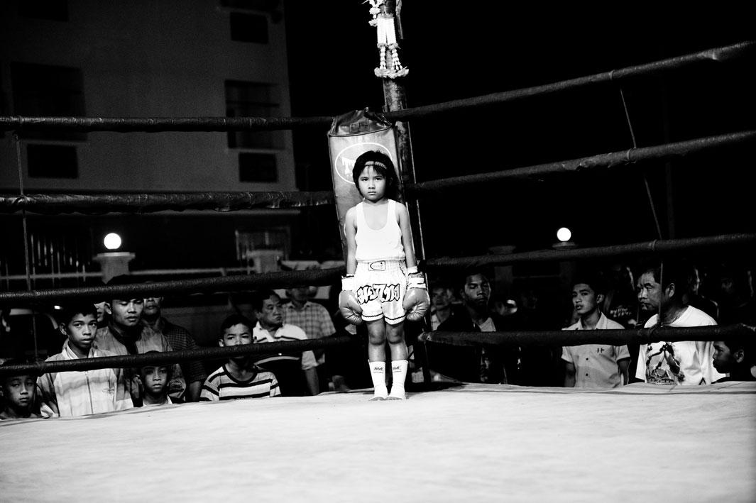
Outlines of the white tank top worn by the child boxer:
{"label": "white tank top worn by the child boxer", "polygon": [[358,262],[404,258],[401,229],[396,219],[396,205],[397,202],[394,199],[389,199],[386,225],[381,229],[371,229],[367,226],[363,202],[355,207],[355,224],[357,224],[355,259]]}

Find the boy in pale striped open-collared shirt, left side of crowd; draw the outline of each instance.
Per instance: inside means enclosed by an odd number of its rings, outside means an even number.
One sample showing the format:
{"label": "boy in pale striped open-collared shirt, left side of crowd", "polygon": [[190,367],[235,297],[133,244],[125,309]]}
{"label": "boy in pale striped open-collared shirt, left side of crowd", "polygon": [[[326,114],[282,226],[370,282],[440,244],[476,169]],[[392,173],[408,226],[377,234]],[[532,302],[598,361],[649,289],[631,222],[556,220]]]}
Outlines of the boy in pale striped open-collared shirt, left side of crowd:
{"label": "boy in pale striped open-collared shirt, left side of crowd", "polygon": [[[93,304],[73,303],[64,307],[60,332],[67,336],[67,341],[60,353],[45,361],[116,356],[109,351],[92,347],[97,319],[97,310]],[[41,375],[37,379],[37,385],[42,391],[42,402],[60,416],[100,414],[131,409],[133,406],[123,369],[51,372]]]}

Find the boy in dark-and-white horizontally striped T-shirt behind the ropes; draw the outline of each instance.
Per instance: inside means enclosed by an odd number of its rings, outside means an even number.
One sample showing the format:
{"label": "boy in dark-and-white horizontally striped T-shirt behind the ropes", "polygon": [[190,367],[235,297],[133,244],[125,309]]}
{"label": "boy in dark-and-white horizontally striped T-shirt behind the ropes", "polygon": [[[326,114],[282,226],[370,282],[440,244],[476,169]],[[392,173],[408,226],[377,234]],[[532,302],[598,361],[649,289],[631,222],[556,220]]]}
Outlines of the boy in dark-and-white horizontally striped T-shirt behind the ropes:
{"label": "boy in dark-and-white horizontally striped T-shirt behind the ropes", "polygon": [[[254,324],[245,316],[232,314],[223,320],[218,346],[231,347],[252,344]],[[251,355],[231,356],[228,363],[212,372],[200,393],[200,402],[265,398],[280,395],[278,381],[271,372],[260,369]]]}

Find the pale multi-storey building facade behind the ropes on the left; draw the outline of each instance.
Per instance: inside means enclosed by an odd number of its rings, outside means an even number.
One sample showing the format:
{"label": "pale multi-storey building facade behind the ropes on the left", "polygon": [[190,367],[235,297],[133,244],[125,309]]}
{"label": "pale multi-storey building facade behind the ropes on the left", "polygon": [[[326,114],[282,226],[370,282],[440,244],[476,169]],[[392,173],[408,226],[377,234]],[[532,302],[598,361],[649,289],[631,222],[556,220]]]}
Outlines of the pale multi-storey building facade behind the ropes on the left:
{"label": "pale multi-storey building facade behind the ropes on the left", "polygon": [[[288,117],[288,80],[276,0],[0,5],[0,115]],[[290,131],[6,131],[0,166],[5,194],[296,190]],[[37,275],[91,273],[104,234],[118,232],[136,268],[230,267],[256,236],[277,236],[257,244],[287,253],[296,218],[296,211],[29,213],[28,254]],[[20,215],[0,216],[0,230],[8,243],[0,274],[18,276],[26,253]]]}

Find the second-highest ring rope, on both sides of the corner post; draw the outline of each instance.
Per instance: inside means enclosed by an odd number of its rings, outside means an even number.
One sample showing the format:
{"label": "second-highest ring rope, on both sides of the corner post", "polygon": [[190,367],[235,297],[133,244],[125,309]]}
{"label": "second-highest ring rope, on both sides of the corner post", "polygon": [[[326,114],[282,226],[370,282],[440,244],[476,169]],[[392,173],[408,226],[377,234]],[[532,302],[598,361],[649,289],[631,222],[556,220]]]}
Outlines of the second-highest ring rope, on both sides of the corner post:
{"label": "second-highest ring rope, on both sides of the corner post", "polygon": [[[654,159],[689,156],[722,147],[756,140],[756,131],[740,131],[718,136],[696,138],[694,140],[666,143],[655,147],[622,150],[581,157],[567,161],[548,162],[540,165],[512,168],[480,174],[466,174],[460,177],[442,178],[407,184],[407,195],[423,196],[435,190],[484,184],[491,181],[512,178],[537,178],[573,171],[590,171],[600,168],[616,168]],[[152,211],[183,209],[212,209],[215,211],[236,211],[251,208],[295,208],[333,204],[333,193],[321,192],[239,192],[239,193],[153,193],[121,195],[86,194],[29,194],[0,196],[0,213],[14,213],[20,209],[36,213],[54,214],[79,211],[86,214],[103,214],[110,211],[148,213]],[[111,209],[114,208],[114,209]]]}

